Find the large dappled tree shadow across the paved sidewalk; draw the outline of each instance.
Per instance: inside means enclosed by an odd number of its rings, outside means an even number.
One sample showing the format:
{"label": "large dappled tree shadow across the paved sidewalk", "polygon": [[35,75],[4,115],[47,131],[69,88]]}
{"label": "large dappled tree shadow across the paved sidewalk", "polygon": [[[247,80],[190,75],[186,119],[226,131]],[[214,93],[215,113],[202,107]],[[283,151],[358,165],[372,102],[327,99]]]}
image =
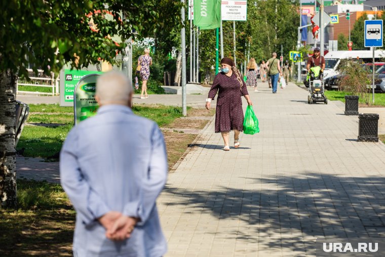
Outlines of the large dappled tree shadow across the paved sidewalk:
{"label": "large dappled tree shadow across the paved sidewalk", "polygon": [[237,240],[266,247],[303,252],[314,250],[316,237],[385,237],[384,177],[306,173],[245,179],[246,185],[260,184],[261,190],[165,191],[174,196],[170,205],[255,227],[253,233],[238,228],[231,233]]}

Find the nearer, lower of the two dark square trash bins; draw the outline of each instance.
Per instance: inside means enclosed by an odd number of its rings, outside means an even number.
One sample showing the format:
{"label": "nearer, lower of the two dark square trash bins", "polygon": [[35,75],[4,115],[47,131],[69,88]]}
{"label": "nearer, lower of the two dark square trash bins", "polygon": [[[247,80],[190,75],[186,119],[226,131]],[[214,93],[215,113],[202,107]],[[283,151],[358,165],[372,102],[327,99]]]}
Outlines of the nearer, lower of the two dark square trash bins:
{"label": "nearer, lower of the two dark square trash bins", "polygon": [[378,114],[358,115],[358,141],[378,142]]}

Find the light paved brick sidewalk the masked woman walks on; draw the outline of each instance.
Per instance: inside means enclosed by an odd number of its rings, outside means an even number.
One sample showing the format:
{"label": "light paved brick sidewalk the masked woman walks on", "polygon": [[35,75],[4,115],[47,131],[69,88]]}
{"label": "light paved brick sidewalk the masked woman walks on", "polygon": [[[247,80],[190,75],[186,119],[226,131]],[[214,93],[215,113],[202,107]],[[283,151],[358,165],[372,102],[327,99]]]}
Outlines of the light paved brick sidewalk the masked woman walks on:
{"label": "light paved brick sidewalk the masked woman walks on", "polygon": [[317,237],[385,237],[385,145],[294,84],[258,90],[259,134],[224,152],[212,123],[169,175],[166,256],[315,256]]}

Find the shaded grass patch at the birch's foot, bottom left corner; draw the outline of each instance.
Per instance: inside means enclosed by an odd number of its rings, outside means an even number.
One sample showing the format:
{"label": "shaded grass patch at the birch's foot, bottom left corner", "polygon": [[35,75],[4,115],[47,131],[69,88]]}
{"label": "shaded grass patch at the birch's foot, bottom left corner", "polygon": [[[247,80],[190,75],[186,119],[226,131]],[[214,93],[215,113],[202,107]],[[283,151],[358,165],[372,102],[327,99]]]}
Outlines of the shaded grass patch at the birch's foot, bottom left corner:
{"label": "shaded grass patch at the birch's foot, bottom left corner", "polygon": [[58,184],[17,180],[17,209],[0,210],[0,256],[72,256],[75,211]]}

